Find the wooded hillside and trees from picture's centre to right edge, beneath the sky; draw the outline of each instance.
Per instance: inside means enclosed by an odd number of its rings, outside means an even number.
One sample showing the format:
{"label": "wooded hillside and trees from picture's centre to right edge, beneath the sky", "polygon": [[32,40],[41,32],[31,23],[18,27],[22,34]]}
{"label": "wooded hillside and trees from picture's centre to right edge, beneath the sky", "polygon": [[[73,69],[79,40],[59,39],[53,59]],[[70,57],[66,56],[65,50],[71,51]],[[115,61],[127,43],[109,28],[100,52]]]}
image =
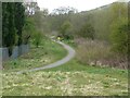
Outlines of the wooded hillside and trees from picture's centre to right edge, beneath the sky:
{"label": "wooded hillside and trees from picture's centre to right edge, beneath the sky", "polygon": [[[58,10],[54,10],[53,14],[46,17],[49,30],[56,30],[57,35],[64,38],[83,37],[92,40],[105,40],[112,46],[113,51],[127,54],[127,2],[114,2],[91,11],[76,13],[69,13],[68,10],[58,8]],[[73,12],[76,11],[73,10]]]}

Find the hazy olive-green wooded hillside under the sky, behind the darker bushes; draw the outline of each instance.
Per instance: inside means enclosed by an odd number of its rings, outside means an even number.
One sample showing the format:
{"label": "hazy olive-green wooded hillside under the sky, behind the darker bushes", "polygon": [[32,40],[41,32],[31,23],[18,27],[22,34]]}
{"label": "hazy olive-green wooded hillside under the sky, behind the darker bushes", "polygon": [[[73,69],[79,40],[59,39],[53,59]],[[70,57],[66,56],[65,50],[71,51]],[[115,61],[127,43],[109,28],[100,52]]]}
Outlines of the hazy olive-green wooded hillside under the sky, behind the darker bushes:
{"label": "hazy olive-green wooded hillside under the sky, behind the darker bushes", "polygon": [[[51,14],[47,17],[47,24],[50,24],[51,30],[58,30],[58,27],[67,20],[73,25],[73,29],[69,34],[73,36],[79,37],[80,29],[83,28],[84,24],[91,24],[94,28],[94,36],[100,40],[109,41],[109,25],[117,17],[127,17],[127,3],[125,2],[115,2],[108,5],[98,8],[92,11],[82,11],[80,13],[65,14],[65,10],[57,9],[55,14]],[[66,11],[67,12],[67,11]],[[62,13],[62,14],[60,14]]]}

